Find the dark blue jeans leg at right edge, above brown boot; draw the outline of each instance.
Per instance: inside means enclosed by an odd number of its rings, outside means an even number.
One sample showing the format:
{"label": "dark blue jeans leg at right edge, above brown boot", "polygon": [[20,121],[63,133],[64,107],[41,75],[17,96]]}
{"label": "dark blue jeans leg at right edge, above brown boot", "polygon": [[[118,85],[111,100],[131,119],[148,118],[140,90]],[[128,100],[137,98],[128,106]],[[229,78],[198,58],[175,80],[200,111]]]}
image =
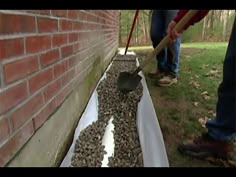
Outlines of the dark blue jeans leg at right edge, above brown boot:
{"label": "dark blue jeans leg at right edge, above brown boot", "polygon": [[234,19],[223,65],[223,80],[218,88],[216,117],[206,124],[208,134],[217,140],[236,137],[236,19]]}

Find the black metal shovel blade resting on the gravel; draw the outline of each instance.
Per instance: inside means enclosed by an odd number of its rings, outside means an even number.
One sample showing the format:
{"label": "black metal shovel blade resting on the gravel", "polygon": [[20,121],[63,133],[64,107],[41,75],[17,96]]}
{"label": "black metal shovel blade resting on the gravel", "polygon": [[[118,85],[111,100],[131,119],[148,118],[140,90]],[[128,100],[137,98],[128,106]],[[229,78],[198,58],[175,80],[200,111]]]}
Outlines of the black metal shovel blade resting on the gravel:
{"label": "black metal shovel blade resting on the gravel", "polygon": [[121,72],[118,76],[117,86],[123,93],[128,93],[138,87],[142,77],[138,74],[129,72]]}

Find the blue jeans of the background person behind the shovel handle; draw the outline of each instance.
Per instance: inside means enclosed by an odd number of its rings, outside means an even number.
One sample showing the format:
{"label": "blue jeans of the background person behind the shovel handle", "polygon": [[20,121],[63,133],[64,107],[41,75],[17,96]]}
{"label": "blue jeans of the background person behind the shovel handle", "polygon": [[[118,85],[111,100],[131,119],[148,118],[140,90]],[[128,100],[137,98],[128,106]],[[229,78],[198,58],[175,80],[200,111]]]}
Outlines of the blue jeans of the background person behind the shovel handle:
{"label": "blue jeans of the background person behind the shovel handle", "polygon": [[[166,36],[168,24],[176,16],[178,10],[153,10],[151,22],[151,40],[155,48]],[[175,42],[165,47],[157,56],[157,69],[173,76],[178,76],[179,72],[179,50],[181,37]]]}

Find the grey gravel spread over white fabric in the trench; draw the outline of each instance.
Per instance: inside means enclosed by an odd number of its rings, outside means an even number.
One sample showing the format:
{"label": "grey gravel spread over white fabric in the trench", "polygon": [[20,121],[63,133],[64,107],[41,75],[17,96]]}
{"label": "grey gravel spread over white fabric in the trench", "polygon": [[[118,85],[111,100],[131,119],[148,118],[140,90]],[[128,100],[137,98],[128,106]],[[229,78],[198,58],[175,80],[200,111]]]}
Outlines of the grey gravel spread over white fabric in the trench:
{"label": "grey gravel spread over white fabric in the trench", "polygon": [[[127,61],[128,60],[128,61]],[[117,78],[122,71],[136,69],[135,56],[117,55],[106,78],[97,87],[98,120],[81,131],[75,145],[72,166],[101,167],[104,154],[102,137],[108,121],[113,116],[115,149],[109,158],[109,167],[142,167],[143,158],[140,147],[136,112],[142,97],[143,88],[128,94],[117,89]]]}

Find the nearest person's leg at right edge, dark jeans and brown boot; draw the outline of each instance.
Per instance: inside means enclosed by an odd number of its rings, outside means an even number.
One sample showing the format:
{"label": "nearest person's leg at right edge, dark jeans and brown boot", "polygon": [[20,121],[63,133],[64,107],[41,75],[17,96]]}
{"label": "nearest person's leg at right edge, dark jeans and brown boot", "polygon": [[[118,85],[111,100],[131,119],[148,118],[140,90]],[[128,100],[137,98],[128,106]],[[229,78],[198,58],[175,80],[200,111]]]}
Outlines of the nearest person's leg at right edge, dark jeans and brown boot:
{"label": "nearest person's leg at right edge, dark jeans and brown boot", "polygon": [[207,134],[189,143],[181,144],[180,152],[194,157],[217,156],[228,158],[233,152],[236,137],[236,19],[228,44],[223,81],[218,88],[216,118],[207,122]]}

